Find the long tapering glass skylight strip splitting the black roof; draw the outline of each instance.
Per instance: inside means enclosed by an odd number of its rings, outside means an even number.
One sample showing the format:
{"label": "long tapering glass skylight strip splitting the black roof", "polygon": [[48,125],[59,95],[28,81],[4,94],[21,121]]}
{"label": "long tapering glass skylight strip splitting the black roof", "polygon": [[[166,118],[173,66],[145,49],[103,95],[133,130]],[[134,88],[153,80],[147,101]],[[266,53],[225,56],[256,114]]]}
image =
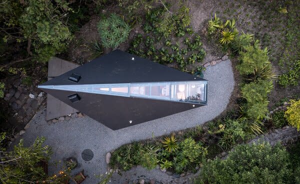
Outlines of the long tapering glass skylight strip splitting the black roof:
{"label": "long tapering glass skylight strip splitting the black roof", "polygon": [[94,94],[206,104],[207,81],[38,86]]}

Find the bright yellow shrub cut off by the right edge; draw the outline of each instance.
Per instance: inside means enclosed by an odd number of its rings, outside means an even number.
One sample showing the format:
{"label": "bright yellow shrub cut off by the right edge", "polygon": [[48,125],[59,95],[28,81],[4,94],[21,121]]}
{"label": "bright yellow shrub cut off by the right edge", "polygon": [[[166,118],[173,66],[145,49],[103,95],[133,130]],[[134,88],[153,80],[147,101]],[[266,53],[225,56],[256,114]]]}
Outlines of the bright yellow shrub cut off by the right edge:
{"label": "bright yellow shrub cut off by the right edge", "polygon": [[290,106],[287,107],[287,110],[285,111],[285,118],[287,119],[287,122],[297,128],[297,131],[300,130],[300,100],[290,100],[289,101]]}

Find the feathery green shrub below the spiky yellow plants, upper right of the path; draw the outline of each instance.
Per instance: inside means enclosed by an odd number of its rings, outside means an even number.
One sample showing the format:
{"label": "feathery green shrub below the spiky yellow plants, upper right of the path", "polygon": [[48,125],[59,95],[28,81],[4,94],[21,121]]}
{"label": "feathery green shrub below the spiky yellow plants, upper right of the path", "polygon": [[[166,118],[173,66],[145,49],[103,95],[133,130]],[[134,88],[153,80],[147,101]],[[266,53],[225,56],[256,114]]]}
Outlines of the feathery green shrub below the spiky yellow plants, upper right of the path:
{"label": "feathery green shrub below the spiky yellow plants, upper right of the path", "polygon": [[262,68],[267,64],[267,48],[260,49],[258,41],[254,43],[254,46],[245,46],[244,51],[239,52],[240,63],[236,66],[236,69],[242,75],[252,74],[256,68]]}

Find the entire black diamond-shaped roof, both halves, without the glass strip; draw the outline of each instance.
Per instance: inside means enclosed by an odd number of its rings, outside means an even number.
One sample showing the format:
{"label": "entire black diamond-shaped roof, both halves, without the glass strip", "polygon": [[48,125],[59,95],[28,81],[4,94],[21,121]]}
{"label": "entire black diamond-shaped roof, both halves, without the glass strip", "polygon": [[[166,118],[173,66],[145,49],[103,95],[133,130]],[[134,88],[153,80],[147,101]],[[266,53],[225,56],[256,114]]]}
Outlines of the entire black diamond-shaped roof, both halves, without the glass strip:
{"label": "entire black diamond-shaped roof, both halves, without the glass strip", "polygon": [[[134,60],[132,60],[132,57]],[[78,82],[69,80],[73,73]],[[133,82],[199,81],[202,78],[154,63],[150,60],[114,50],[87,64],[70,70],[40,85],[114,84]],[[42,89],[67,105],[83,112],[112,130],[179,113],[203,104],[180,103],[136,97],[112,96],[56,89]],[[69,96],[77,94],[72,103]]]}

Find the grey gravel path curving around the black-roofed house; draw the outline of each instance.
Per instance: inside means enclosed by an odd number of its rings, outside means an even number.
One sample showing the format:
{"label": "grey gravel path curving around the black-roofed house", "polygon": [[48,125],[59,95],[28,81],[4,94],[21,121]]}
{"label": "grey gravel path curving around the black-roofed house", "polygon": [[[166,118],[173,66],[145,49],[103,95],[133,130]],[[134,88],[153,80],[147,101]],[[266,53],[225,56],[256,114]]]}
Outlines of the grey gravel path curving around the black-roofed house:
{"label": "grey gravel path curving around the black-roofed house", "polygon": [[[84,169],[84,173],[89,176],[82,184],[96,184],[99,179],[95,176],[106,172],[106,152],[134,140],[149,139],[152,136],[161,136],[203,124],[223,112],[234,87],[230,60],[208,67],[204,72],[204,78],[208,80],[207,106],[116,131],[106,128],[87,116],[48,125],[45,121],[44,109],[34,116],[29,122],[26,133],[20,137],[24,139],[25,145],[29,145],[37,136],[44,136],[45,144],[52,147],[51,159],[53,161],[63,160],[70,156],[77,158],[79,168],[74,172]],[[81,158],[81,152],[85,149],[93,151],[94,157],[89,162]],[[54,171],[56,171],[55,167],[49,168],[50,173]],[[124,173],[123,177],[114,176],[111,183],[122,184],[127,178],[130,177],[133,180],[140,175],[161,182],[174,180],[166,174],[158,174],[157,170],[146,172],[138,167]]]}

